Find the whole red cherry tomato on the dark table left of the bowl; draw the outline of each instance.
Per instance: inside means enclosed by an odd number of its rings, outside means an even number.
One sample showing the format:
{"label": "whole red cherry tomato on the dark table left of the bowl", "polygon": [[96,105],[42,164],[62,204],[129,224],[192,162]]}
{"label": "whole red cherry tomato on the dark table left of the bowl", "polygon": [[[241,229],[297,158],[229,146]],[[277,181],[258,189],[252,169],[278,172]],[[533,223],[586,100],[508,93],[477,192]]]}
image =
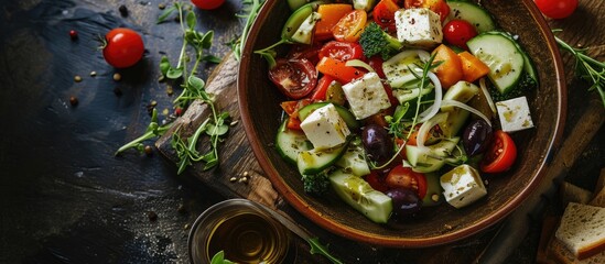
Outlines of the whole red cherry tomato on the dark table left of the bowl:
{"label": "whole red cherry tomato on the dark table left of the bowl", "polygon": [[105,35],[105,41],[102,56],[116,68],[130,67],[143,57],[143,40],[133,30],[114,29]]}

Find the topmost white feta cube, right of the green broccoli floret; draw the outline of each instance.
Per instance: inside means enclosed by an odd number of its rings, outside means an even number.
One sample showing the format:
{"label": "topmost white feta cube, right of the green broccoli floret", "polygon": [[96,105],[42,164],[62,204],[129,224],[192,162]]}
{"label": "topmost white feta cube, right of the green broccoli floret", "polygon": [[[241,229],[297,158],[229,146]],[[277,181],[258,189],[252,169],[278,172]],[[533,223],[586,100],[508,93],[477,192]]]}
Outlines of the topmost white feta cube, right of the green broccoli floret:
{"label": "topmost white feta cube, right of the green broccoli floret", "polygon": [[403,44],[431,48],[443,41],[441,19],[429,9],[400,9],[395,12],[395,24]]}

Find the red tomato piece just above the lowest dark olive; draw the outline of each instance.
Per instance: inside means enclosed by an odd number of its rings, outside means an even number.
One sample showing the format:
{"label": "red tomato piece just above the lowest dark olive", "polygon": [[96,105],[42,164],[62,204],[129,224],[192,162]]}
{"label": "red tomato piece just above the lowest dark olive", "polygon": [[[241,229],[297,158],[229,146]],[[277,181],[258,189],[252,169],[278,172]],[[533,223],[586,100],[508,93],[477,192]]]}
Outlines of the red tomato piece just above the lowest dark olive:
{"label": "red tomato piece just above the lowest dark olive", "polygon": [[411,188],[418,193],[420,199],[426,195],[426,176],[402,165],[398,165],[389,172],[385,184],[392,189]]}

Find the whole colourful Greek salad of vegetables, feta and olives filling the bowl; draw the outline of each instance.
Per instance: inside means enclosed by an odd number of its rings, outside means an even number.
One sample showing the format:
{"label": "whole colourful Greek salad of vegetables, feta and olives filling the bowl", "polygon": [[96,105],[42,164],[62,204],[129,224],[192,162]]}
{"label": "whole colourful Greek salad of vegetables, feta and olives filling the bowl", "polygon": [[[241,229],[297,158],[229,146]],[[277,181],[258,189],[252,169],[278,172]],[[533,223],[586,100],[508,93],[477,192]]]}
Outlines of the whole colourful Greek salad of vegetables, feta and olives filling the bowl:
{"label": "whole colourful Greek salad of vegetables, feta and olives filling the bowl", "polygon": [[[536,68],[480,4],[288,0],[276,45],[256,51],[288,99],[276,148],[304,190],[334,191],[377,223],[488,195],[531,129]],[[278,45],[288,53],[276,55]],[[283,48],[283,47],[282,47]],[[278,91],[276,91],[278,92]]]}

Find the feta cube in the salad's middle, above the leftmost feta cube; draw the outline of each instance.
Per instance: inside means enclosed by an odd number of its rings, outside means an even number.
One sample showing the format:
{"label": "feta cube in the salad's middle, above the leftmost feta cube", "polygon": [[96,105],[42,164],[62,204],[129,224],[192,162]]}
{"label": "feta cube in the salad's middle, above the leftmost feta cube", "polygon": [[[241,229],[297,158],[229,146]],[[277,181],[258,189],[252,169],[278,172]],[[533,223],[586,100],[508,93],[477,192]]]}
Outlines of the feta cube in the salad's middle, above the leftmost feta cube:
{"label": "feta cube in the salad's middle, above the leftmost feta cube", "polygon": [[364,77],[344,85],[343,91],[356,119],[365,119],[391,106],[376,73],[367,73]]}

